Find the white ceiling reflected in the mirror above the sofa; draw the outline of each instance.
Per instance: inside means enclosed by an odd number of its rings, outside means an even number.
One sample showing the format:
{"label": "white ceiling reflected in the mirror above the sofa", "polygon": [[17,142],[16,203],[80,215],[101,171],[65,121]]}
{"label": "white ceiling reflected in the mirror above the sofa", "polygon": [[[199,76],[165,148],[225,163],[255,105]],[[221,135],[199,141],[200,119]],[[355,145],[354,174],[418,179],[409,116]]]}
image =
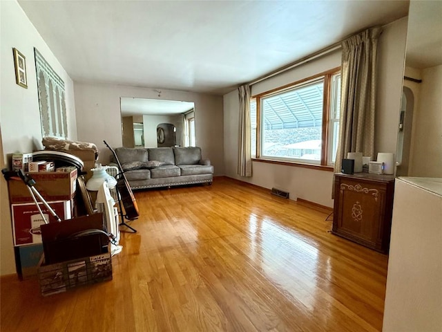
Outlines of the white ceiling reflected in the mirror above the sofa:
{"label": "white ceiling reflected in the mirror above the sofa", "polygon": [[122,97],[122,116],[173,116],[195,107],[193,102]]}

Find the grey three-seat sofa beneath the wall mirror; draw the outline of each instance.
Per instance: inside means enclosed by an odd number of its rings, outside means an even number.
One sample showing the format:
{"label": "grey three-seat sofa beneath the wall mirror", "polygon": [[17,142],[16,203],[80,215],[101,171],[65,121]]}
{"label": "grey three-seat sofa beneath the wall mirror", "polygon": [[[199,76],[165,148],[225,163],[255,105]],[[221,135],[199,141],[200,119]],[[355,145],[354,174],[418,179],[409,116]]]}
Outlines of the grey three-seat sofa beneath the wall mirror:
{"label": "grey three-seat sofa beneath the wall mirror", "polygon": [[213,166],[200,147],[118,147],[115,154],[132,190],[213,181]]}

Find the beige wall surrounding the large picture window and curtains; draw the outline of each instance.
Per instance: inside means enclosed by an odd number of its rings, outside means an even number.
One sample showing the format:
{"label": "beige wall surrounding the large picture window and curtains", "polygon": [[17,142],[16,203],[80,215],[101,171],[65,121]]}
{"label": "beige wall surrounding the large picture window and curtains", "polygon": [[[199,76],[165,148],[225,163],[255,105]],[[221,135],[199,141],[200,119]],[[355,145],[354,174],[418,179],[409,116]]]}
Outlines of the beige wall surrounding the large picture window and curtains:
{"label": "beige wall surrounding the large picture window and curtains", "polygon": [[[375,148],[395,152],[401,94],[407,18],[385,26],[378,46],[378,90],[376,104]],[[284,84],[340,66],[340,51],[298,66],[282,75],[271,77],[252,87],[252,94],[269,91]],[[333,172],[302,167],[253,162],[253,176],[236,174],[238,160],[238,92],[224,95],[224,165],[227,176],[260,187],[287,190],[291,199],[305,199],[332,207]]]}

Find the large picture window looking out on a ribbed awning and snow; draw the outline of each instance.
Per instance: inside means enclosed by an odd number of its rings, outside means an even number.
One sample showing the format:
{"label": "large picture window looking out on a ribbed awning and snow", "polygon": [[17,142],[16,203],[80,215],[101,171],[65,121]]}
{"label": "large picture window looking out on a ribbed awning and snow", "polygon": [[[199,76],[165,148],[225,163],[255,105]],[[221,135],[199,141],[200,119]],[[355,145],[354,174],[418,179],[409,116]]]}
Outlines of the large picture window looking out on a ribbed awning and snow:
{"label": "large picture window looking out on a ribbed awning and snow", "polygon": [[339,103],[340,73],[336,70],[256,95],[251,100],[252,156],[332,165],[338,144]]}

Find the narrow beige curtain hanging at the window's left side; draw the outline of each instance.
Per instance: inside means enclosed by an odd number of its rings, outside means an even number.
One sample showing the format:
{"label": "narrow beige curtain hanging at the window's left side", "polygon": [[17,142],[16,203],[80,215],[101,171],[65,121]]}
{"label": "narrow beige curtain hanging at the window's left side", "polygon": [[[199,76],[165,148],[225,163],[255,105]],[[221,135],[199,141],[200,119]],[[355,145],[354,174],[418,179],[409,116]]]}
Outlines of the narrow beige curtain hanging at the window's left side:
{"label": "narrow beige curtain hanging at the window's left side", "polygon": [[250,86],[238,88],[240,98],[240,126],[238,146],[238,175],[251,176],[251,127],[250,127]]}

